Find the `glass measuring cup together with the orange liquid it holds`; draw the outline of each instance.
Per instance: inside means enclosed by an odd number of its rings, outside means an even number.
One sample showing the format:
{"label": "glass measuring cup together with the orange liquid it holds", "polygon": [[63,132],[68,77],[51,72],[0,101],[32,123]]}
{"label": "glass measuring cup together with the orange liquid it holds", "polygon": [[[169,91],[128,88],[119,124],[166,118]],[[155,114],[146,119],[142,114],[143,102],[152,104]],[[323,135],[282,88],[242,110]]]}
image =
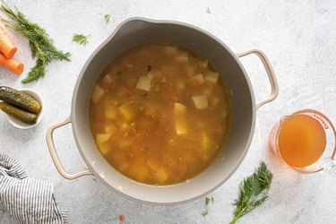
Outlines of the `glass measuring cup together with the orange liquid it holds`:
{"label": "glass measuring cup together with the orange liquid it holds", "polygon": [[313,109],[282,116],[270,134],[270,146],[300,173],[329,170],[336,165],[336,132],[327,116]]}

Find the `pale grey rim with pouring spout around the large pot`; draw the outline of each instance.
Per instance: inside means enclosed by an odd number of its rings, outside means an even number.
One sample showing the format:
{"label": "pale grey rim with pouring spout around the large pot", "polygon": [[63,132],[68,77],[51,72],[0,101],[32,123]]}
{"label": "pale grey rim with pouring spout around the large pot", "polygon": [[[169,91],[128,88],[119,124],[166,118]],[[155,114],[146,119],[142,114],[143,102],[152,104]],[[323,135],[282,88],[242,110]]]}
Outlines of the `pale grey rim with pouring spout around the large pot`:
{"label": "pale grey rim with pouring spout around the large pot", "polygon": [[[79,139],[77,137],[77,131],[76,131],[76,128],[75,128],[75,126],[76,126],[75,101],[77,99],[77,93],[78,93],[78,89],[79,89],[80,83],[82,81],[82,77],[83,77],[84,73],[86,72],[88,66],[90,65],[92,59],[99,54],[99,51],[103,47],[105,47],[109,43],[109,41],[111,41],[111,39],[114,38],[114,36],[120,30],[121,27],[123,27],[127,22],[133,22],[133,21],[142,21],[142,22],[149,22],[149,23],[155,23],[155,24],[174,24],[174,25],[179,25],[179,26],[184,26],[184,27],[187,27],[187,28],[191,28],[191,29],[194,29],[194,30],[197,30],[199,32],[202,32],[202,33],[206,34],[210,39],[214,39],[215,41],[219,42],[222,47],[225,47],[228,50],[229,54],[237,62],[237,65],[241,69],[242,73],[244,73],[244,76],[246,78],[246,83],[247,83],[247,86],[249,88],[250,95],[251,95],[251,101],[252,101],[252,122],[251,122],[250,134],[248,136],[245,149],[241,153],[239,159],[237,160],[235,167],[231,169],[231,171],[228,173],[227,177],[225,177],[224,179],[222,179],[218,185],[212,186],[208,191],[206,191],[206,192],[204,192],[202,194],[196,195],[194,197],[191,197],[189,199],[185,199],[185,200],[181,200],[181,201],[175,201],[175,202],[155,202],[155,200],[153,200],[153,201],[144,201],[142,199],[135,198],[133,196],[125,194],[124,192],[120,191],[119,189],[113,187],[112,185],[109,185],[108,182],[104,178],[100,177],[99,173],[95,170],[95,168],[92,168],[92,166],[90,165],[90,161],[86,158],[84,152],[82,151],[81,142],[79,141]],[[70,117],[71,117],[72,129],[73,129],[73,136],[74,136],[74,140],[76,142],[76,146],[78,148],[78,151],[80,152],[81,157],[84,160],[86,166],[88,166],[88,168],[90,169],[90,172],[94,175],[94,177],[96,177],[97,179],[99,179],[99,182],[101,182],[104,185],[108,186],[108,188],[111,189],[112,191],[114,191],[116,194],[119,194],[119,195],[121,195],[121,196],[123,196],[123,197],[125,197],[127,199],[130,199],[131,201],[141,202],[141,203],[150,204],[150,205],[167,206],[167,205],[183,204],[183,203],[187,203],[187,202],[194,202],[195,200],[198,200],[198,199],[200,199],[200,198],[202,198],[202,197],[204,197],[204,196],[206,196],[208,194],[211,194],[212,192],[214,192],[215,190],[217,190],[221,185],[223,185],[225,182],[227,182],[230,177],[232,177],[232,175],[237,171],[237,168],[239,168],[239,166],[241,165],[241,163],[245,159],[246,153],[249,150],[249,147],[251,145],[251,142],[252,142],[252,139],[253,139],[253,136],[254,136],[254,129],[255,129],[255,116],[256,116],[256,106],[255,106],[255,100],[254,100],[254,90],[253,90],[252,84],[250,82],[250,79],[249,79],[249,77],[248,77],[248,75],[246,73],[246,70],[245,70],[244,66],[241,64],[241,62],[239,61],[239,59],[236,56],[236,54],[233,53],[230,50],[230,48],[227,45],[225,45],[220,39],[218,39],[217,37],[215,37],[214,35],[212,35],[210,32],[208,32],[206,30],[202,30],[199,27],[196,27],[196,26],[194,26],[192,24],[188,24],[188,23],[185,23],[185,22],[177,22],[177,21],[170,21],[170,20],[153,20],[153,19],[147,19],[147,18],[143,18],[143,17],[131,17],[131,18],[128,18],[125,21],[121,22],[118,26],[116,26],[116,29],[108,36],[108,38],[106,40],[104,40],[99,45],[99,47],[97,47],[91,53],[90,57],[87,59],[87,61],[85,62],[85,64],[82,66],[82,70],[81,70],[81,72],[80,72],[80,74],[79,74],[79,76],[77,78],[76,84],[75,84],[74,89],[73,89],[73,99],[72,99],[72,107],[71,107],[71,116]],[[133,180],[130,179],[130,181],[133,181]],[[143,185],[142,183],[138,183],[138,182],[136,182],[136,183],[139,184],[139,185]],[[183,183],[180,183],[180,184],[183,184]],[[177,185],[180,185],[180,184],[177,184]],[[174,187],[176,185],[168,185],[168,186],[149,185],[149,186],[165,188],[165,187]]]}

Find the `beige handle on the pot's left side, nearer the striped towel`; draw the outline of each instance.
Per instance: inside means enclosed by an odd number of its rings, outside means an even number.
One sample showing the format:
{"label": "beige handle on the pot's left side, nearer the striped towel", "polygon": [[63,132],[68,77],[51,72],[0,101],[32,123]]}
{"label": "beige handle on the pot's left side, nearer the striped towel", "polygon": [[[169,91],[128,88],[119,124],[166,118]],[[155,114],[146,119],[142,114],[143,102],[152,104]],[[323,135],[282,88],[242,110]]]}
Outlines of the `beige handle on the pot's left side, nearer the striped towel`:
{"label": "beige handle on the pot's left side, nearer the striped towel", "polygon": [[82,177],[82,176],[85,176],[85,175],[92,175],[92,173],[90,172],[89,168],[86,168],[85,170],[82,170],[79,173],[69,174],[68,172],[66,172],[64,166],[62,165],[61,160],[58,157],[58,154],[57,154],[56,148],[55,148],[54,139],[53,139],[53,134],[54,134],[54,131],[55,131],[56,128],[67,125],[69,123],[71,123],[70,116],[68,118],[66,118],[66,120],[64,122],[61,122],[57,125],[51,126],[49,129],[47,129],[46,138],[47,138],[47,148],[49,149],[51,159],[53,159],[58,173],[60,175],[62,175],[62,177],[65,177],[66,179],[73,180],[73,179],[76,179],[78,177]]}

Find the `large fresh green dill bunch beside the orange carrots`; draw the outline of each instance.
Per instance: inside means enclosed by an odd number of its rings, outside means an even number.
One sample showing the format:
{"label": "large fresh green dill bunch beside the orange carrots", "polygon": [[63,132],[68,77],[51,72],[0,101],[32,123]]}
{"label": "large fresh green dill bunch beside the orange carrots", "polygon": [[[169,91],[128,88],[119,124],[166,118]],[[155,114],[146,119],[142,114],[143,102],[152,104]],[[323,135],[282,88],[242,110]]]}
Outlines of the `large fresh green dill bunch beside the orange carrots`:
{"label": "large fresh green dill bunch beside the orange carrots", "polygon": [[47,31],[39,27],[37,23],[30,22],[16,6],[15,12],[13,12],[9,5],[2,1],[0,10],[6,13],[11,19],[9,21],[0,16],[1,21],[6,23],[6,27],[21,33],[29,39],[31,56],[33,58],[37,57],[36,65],[31,68],[28,76],[22,80],[22,83],[37,81],[43,77],[46,74],[47,64],[53,60],[70,61],[70,53],[58,50],[54,46],[53,40],[47,34]]}

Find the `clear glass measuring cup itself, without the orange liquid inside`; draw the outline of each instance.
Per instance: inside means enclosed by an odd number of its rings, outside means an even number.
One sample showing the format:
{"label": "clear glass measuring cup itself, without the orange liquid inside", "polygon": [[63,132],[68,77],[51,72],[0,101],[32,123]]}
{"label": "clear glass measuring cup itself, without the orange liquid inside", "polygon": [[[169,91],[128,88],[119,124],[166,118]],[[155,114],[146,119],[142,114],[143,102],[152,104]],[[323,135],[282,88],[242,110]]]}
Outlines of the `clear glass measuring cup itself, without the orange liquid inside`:
{"label": "clear glass measuring cup itself, without the orange liquid inside", "polygon": [[[285,159],[281,157],[280,148],[279,148],[279,135],[281,128],[284,124],[284,122],[289,119],[289,117],[292,116],[298,116],[298,115],[306,115],[311,116],[314,118],[318,123],[323,127],[325,137],[326,137],[326,144],[325,149],[323,151],[322,156],[320,159],[318,159],[313,164],[306,166],[304,168],[298,168],[289,165]],[[335,160],[335,153],[336,153],[336,132],[335,128],[332,125],[332,122],[329,120],[327,116],[324,116],[321,112],[318,112],[314,109],[304,109],[299,110],[296,113],[289,115],[289,116],[282,116],[280,118],[280,122],[275,124],[273,128],[271,129],[270,134],[270,147],[271,150],[281,159],[283,163],[285,163],[289,168],[293,168],[296,171],[304,174],[310,174],[319,172],[322,170],[330,171],[333,169],[336,169],[336,160]],[[335,170],[333,170],[335,172]]]}

